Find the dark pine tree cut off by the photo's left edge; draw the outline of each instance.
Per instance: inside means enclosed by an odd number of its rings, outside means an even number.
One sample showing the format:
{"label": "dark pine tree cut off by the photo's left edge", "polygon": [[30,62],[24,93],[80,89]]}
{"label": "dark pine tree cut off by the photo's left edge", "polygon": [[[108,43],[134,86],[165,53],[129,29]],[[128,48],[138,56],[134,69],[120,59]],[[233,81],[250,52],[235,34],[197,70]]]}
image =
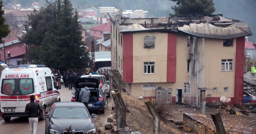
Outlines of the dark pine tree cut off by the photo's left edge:
{"label": "dark pine tree cut off by the photo's left edge", "polygon": [[2,38],[6,37],[11,31],[9,25],[5,24],[4,10],[2,10],[3,2],[0,1],[0,41],[3,42]]}

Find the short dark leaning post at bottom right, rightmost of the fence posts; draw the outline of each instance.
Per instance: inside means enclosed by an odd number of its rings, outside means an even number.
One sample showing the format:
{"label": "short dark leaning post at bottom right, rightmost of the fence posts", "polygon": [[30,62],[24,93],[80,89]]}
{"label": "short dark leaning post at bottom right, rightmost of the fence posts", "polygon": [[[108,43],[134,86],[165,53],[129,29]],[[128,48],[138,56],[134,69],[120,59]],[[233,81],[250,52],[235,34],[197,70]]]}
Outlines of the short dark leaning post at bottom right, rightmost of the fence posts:
{"label": "short dark leaning post at bottom right, rightmost of the fence posts", "polygon": [[220,114],[218,112],[214,112],[211,116],[218,134],[226,134]]}

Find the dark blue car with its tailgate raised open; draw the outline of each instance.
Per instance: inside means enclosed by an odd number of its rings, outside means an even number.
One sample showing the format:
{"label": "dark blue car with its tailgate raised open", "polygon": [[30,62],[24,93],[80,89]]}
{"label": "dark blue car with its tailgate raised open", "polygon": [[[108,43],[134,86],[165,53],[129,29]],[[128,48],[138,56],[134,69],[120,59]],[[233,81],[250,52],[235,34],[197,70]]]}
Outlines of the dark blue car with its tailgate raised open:
{"label": "dark blue car with its tailgate raised open", "polygon": [[76,92],[72,92],[73,96],[71,101],[79,100],[79,93],[81,88],[88,87],[90,90],[90,99],[88,102],[88,110],[100,111],[105,113],[105,108],[108,107],[108,100],[106,98],[106,92],[102,91],[99,87],[99,79],[92,77],[83,77],[75,80]]}

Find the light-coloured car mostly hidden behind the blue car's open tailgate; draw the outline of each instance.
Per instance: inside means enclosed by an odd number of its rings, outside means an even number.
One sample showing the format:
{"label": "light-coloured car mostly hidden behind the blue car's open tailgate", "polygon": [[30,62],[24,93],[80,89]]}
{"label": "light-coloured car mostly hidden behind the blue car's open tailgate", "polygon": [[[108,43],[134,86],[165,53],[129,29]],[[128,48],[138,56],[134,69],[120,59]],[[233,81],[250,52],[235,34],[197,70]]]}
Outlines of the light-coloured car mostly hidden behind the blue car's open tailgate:
{"label": "light-coloured car mostly hidden behind the blue car's open tailgate", "polygon": [[104,75],[82,75],[81,78],[92,77],[100,80],[100,89],[107,93],[107,97],[110,97],[109,81],[106,81],[106,76]]}

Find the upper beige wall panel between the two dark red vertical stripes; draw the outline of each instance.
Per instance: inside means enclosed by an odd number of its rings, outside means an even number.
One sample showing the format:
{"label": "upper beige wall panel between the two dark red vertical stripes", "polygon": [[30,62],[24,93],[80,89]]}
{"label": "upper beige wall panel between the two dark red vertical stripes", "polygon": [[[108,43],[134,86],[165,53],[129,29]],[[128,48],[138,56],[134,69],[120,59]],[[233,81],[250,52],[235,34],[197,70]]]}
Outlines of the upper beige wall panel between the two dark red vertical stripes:
{"label": "upper beige wall panel between the two dark red vertical stripes", "polygon": [[[144,37],[154,36],[155,48],[144,48]],[[168,33],[140,32],[133,34],[133,83],[166,82]],[[154,74],[144,74],[144,62],[154,62]]]}

